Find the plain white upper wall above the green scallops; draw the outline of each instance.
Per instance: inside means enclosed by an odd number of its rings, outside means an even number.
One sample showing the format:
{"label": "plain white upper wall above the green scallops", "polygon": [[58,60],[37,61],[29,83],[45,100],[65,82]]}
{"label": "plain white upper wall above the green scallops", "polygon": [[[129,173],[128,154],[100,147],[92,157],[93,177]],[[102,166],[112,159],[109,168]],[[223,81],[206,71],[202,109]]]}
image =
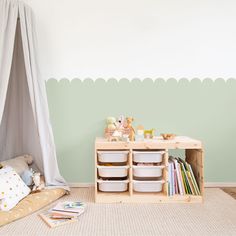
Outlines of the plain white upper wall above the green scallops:
{"label": "plain white upper wall above the green scallops", "polygon": [[235,0],[25,0],[44,79],[236,77]]}

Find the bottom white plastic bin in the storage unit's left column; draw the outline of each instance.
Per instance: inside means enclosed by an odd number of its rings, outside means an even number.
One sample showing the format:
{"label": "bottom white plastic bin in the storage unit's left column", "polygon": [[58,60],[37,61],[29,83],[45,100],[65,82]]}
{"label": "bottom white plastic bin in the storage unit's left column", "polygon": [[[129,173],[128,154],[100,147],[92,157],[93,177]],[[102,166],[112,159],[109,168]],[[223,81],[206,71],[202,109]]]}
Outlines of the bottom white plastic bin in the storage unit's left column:
{"label": "bottom white plastic bin in the storage unit's left column", "polygon": [[128,180],[98,180],[98,189],[102,192],[125,192]]}

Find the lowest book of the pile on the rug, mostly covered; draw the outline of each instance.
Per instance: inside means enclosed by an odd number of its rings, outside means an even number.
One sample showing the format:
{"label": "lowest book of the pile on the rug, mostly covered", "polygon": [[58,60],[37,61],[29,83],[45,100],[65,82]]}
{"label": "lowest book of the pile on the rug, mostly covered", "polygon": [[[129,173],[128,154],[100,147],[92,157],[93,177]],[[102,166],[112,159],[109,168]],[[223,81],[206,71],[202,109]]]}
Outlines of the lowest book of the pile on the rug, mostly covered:
{"label": "lowest book of the pile on the rug, mostly covered", "polygon": [[40,213],[39,216],[43,219],[43,221],[50,227],[54,228],[57,226],[65,225],[65,224],[70,224],[73,222],[77,222],[78,218],[77,217],[72,217],[72,218],[53,218],[52,213],[50,211]]}

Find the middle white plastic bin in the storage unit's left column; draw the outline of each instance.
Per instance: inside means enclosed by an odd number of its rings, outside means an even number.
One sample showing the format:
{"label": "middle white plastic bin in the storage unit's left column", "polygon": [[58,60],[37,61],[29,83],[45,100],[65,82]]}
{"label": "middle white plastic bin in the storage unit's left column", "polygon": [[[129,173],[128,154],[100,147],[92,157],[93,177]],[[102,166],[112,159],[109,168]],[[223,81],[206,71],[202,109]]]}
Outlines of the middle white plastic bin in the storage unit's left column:
{"label": "middle white plastic bin in the storage unit's left column", "polygon": [[100,177],[126,177],[129,166],[97,166]]}

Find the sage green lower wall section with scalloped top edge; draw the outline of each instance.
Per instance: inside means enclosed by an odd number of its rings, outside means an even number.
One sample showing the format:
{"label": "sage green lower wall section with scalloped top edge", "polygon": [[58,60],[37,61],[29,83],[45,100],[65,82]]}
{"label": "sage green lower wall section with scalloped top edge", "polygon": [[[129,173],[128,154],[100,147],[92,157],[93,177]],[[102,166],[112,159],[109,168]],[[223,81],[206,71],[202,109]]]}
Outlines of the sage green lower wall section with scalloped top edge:
{"label": "sage green lower wall section with scalloped top edge", "polygon": [[105,118],[133,116],[134,125],[203,141],[205,179],[236,181],[236,80],[46,82],[61,173],[69,182],[93,182],[94,139]]}

